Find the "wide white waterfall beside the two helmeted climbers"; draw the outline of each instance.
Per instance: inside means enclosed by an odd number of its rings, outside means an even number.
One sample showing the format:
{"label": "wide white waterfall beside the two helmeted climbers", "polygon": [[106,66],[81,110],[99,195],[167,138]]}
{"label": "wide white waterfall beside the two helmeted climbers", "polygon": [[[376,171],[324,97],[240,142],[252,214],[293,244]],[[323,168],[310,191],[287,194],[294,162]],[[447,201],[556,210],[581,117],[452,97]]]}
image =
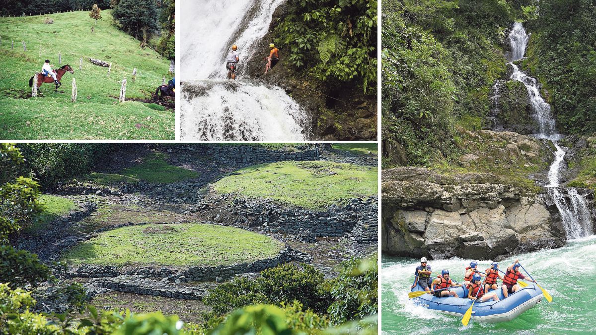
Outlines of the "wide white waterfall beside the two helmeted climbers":
{"label": "wide white waterfall beside the two helmeted climbers", "polygon": [[[246,71],[248,60],[261,60],[253,57],[257,43],[284,1],[182,2],[181,139],[308,139],[310,122],[300,105],[280,87],[252,80]],[[240,57],[233,83],[225,68],[232,44],[238,45]]]}

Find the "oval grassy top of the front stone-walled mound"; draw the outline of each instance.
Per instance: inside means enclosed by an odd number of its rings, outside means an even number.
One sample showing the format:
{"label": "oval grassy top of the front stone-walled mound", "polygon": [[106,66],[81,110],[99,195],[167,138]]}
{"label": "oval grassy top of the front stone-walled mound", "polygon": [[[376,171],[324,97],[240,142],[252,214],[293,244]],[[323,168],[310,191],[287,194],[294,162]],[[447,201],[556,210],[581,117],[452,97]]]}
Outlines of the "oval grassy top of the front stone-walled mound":
{"label": "oval grassy top of the front stone-walled mound", "polygon": [[284,244],[271,237],[212,224],[147,224],[101,233],[61,258],[70,264],[173,267],[251,262],[277,255]]}

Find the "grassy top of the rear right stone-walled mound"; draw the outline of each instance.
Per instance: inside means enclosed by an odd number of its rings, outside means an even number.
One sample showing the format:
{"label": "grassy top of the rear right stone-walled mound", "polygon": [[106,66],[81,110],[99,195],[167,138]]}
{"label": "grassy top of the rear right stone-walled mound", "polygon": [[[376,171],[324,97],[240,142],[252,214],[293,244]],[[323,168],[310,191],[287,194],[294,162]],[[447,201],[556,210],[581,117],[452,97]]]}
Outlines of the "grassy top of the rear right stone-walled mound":
{"label": "grassy top of the rear right stone-walled mound", "polygon": [[325,161],[254,165],[213,184],[221,193],[271,198],[304,208],[325,208],[377,194],[377,168]]}

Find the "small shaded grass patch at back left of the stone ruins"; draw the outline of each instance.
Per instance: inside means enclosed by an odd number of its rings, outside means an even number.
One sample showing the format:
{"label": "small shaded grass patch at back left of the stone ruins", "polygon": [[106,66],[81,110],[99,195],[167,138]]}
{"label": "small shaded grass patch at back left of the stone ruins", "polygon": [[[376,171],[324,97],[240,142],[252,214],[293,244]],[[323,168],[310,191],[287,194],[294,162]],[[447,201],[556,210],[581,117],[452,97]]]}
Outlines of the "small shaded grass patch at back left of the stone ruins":
{"label": "small shaded grass patch at back left of the stone ruins", "polygon": [[91,173],[89,179],[109,186],[122,182],[136,183],[140,180],[152,184],[167,184],[198,177],[196,171],[170,165],[166,158],[167,155],[164,154],[148,155],[141,164],[125,168],[120,173]]}

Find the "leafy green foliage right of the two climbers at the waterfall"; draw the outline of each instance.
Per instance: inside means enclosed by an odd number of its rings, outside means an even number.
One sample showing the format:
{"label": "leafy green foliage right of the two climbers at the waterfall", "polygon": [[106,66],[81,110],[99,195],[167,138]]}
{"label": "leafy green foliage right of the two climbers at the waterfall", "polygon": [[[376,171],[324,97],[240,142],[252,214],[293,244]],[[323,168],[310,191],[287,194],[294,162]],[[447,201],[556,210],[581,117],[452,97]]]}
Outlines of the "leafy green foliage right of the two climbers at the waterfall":
{"label": "leafy green foliage right of the two climbers at the waterfall", "polygon": [[328,84],[376,92],[376,0],[301,0],[288,7],[275,34],[276,43],[289,46],[292,65]]}

